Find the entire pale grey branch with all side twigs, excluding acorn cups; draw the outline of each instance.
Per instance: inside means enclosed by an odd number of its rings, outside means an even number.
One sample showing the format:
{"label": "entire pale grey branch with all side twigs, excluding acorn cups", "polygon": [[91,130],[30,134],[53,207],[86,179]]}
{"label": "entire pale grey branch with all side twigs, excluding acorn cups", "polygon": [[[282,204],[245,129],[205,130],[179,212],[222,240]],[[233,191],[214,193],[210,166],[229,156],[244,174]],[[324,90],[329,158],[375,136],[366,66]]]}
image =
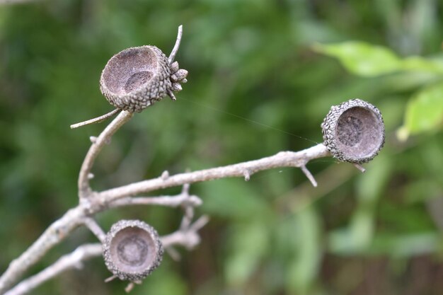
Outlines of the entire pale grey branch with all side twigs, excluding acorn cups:
{"label": "entire pale grey branch with all side twigs, excluding acorn cups", "polygon": [[[19,0],[16,1],[18,2]],[[175,66],[173,60],[175,59],[178,47],[180,46],[182,34],[183,27],[180,25],[178,27],[176,44],[173,47],[171,55],[168,57],[168,62],[171,67]],[[178,67],[178,63],[176,66]],[[171,98],[175,98],[171,91],[168,94]],[[93,120],[88,120],[87,122],[79,123],[73,127],[96,122],[98,120],[104,120],[111,115],[115,115],[115,113],[119,111],[120,110],[113,110],[106,115]],[[82,163],[79,172],[79,205],[73,209],[69,209],[64,216],[57,221],[54,221],[54,223],[42,233],[33,245],[25,250],[18,258],[16,258],[16,260],[11,262],[7,270],[0,277],[0,294],[5,294],[6,291],[11,289],[11,287],[23,277],[23,274],[29,270],[30,267],[35,265],[35,263],[38,262],[47,251],[52,249],[54,245],[63,241],[64,238],[66,238],[69,233],[74,231],[78,226],[86,225],[96,234],[96,236],[98,236],[100,241],[103,241],[105,233],[92,219],[93,215],[98,212],[130,205],[182,206],[185,212],[180,224],[180,229],[168,236],[163,236],[161,239],[166,247],[171,245],[183,245],[185,248],[193,248],[200,242],[200,236],[197,231],[207,223],[208,219],[206,216],[202,216],[202,218],[192,223],[194,207],[200,205],[202,201],[195,195],[189,195],[190,183],[232,177],[242,177],[245,180],[249,180],[254,173],[261,170],[280,167],[297,167],[303,170],[313,185],[316,185],[316,181],[313,179],[311,173],[309,173],[309,170],[307,170],[306,164],[315,158],[330,156],[326,146],[318,144],[309,149],[304,149],[303,151],[281,151],[274,156],[218,168],[210,168],[176,175],[169,175],[166,171],[162,173],[159,178],[144,180],[130,185],[123,185],[102,192],[94,192],[89,183],[91,178],[93,178],[93,174],[91,173],[93,164],[96,161],[98,154],[103,149],[103,146],[110,142],[113,134],[115,134],[122,125],[129,121],[132,116],[132,112],[122,110],[120,114],[117,115],[107,127],[105,127],[98,137],[91,137],[91,147],[84,158],[84,162]],[[134,197],[154,190],[161,190],[167,187],[176,187],[180,185],[183,185],[183,190],[180,195],[177,196]],[[17,284],[16,287],[8,291],[7,294],[24,294],[39,284],[42,284],[42,282],[47,281],[47,279],[54,277],[60,272],[81,265],[82,261],[100,255],[100,253],[100,244],[83,245],[74,250],[73,253],[62,256],[62,258],[57,260],[57,262],[54,262],[53,265],[47,267],[42,272],[25,279],[20,284]]]}

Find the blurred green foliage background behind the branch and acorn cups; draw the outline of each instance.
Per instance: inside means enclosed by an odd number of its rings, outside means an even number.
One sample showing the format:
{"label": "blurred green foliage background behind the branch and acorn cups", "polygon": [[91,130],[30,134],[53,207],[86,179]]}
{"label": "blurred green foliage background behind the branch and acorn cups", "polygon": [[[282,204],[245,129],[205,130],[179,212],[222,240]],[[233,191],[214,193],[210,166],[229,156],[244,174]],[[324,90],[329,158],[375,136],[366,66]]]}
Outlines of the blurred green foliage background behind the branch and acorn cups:
{"label": "blurred green foliage background behind the branch and acorn cups", "polygon": [[[125,49],[178,53],[178,100],[137,114],[106,146],[93,187],[297,151],[321,142],[331,105],[362,98],[386,123],[367,173],[323,158],[299,169],[191,186],[209,214],[202,243],[180,249],[132,294],[441,294],[443,4],[437,0],[52,0],[0,6],[0,272],[77,204],[81,161],[111,110],[98,79]],[[353,41],[353,42],[351,42]],[[332,44],[332,45],[331,45]],[[174,194],[180,188],[158,192]],[[142,219],[174,231],[179,209],[98,215],[107,231]],[[78,229],[28,275],[82,243]],[[124,294],[103,260],[33,294]]]}

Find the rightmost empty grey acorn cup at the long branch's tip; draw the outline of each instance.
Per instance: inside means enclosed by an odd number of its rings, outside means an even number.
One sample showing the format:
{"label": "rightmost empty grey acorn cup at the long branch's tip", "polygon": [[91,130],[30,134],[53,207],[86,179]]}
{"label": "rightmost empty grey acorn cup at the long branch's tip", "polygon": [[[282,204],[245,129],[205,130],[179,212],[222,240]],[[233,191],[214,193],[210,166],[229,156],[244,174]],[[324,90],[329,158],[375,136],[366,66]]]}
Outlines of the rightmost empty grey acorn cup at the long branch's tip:
{"label": "rightmost empty grey acorn cup at the long branch's tip", "polygon": [[380,111],[359,99],[330,108],[321,129],[324,144],[340,161],[369,162],[384,144],[384,122]]}

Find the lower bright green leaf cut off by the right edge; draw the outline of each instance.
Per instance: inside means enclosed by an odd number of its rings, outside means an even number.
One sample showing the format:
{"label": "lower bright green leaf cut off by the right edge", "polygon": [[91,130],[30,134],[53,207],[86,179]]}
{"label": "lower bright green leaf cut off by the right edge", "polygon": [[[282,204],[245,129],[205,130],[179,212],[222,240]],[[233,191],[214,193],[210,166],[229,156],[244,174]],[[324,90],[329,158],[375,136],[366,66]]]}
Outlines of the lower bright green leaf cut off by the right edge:
{"label": "lower bright green leaf cut off by the right edge", "polygon": [[400,139],[441,127],[443,122],[443,83],[438,83],[417,93],[409,102],[405,123],[398,130]]}

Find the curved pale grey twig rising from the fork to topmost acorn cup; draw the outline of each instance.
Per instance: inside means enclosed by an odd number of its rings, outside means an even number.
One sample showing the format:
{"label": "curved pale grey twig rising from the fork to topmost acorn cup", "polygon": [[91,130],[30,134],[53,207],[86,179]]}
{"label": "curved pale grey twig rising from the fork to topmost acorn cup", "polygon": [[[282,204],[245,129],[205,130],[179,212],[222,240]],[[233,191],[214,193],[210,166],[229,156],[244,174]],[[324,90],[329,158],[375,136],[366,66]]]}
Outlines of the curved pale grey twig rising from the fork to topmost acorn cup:
{"label": "curved pale grey twig rising from the fork to topmost acorn cup", "polygon": [[127,112],[123,110],[120,114],[112,121],[110,124],[101,132],[101,134],[96,138],[96,140],[89,148],[88,154],[81,165],[80,174],[79,174],[79,197],[80,199],[85,199],[87,197],[91,197],[91,187],[89,186],[89,173],[91,173],[91,169],[94,161],[96,160],[98,154],[100,153],[103,146],[110,141],[110,138],[113,134],[124,125],[127,121],[129,121],[134,115],[132,112]]}

